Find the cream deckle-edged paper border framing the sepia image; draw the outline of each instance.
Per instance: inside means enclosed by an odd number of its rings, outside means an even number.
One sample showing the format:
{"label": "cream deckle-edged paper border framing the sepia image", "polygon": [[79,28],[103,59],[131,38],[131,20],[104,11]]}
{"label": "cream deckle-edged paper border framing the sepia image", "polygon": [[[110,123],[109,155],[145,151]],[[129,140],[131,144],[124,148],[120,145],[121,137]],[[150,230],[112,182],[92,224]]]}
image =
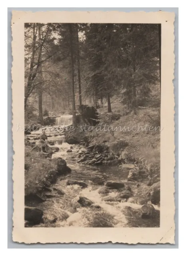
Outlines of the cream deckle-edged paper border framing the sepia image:
{"label": "cream deckle-edged paper border framing the sepia image", "polygon": [[[161,211],[160,228],[24,228],[24,23],[161,23]],[[12,112],[14,140],[13,241],[30,243],[120,242],[174,244],[174,13],[12,12]]]}

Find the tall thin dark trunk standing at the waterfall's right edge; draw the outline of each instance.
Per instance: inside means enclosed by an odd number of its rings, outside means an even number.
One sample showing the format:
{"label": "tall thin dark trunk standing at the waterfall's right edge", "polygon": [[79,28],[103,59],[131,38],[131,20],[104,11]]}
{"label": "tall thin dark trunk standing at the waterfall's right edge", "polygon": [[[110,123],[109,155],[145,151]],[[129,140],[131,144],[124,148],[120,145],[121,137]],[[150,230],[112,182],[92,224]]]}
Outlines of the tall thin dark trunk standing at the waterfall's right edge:
{"label": "tall thin dark trunk standing at the waterfall's right edge", "polygon": [[72,123],[74,128],[76,127],[76,104],[75,104],[75,92],[74,92],[74,58],[73,58],[73,32],[72,24],[68,24],[70,33],[70,66],[71,66],[71,79],[72,79]]}

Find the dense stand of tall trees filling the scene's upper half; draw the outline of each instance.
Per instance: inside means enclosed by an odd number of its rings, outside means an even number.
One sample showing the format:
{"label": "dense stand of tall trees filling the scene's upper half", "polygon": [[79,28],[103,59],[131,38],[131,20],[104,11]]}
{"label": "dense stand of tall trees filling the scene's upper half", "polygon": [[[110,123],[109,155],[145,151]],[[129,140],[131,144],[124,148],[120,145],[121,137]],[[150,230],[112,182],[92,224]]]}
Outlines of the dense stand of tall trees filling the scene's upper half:
{"label": "dense stand of tall trees filling the scene's upper half", "polygon": [[[25,120],[100,108],[115,96],[131,112],[160,84],[159,24],[25,24]],[[159,95],[160,96],[160,95]]]}

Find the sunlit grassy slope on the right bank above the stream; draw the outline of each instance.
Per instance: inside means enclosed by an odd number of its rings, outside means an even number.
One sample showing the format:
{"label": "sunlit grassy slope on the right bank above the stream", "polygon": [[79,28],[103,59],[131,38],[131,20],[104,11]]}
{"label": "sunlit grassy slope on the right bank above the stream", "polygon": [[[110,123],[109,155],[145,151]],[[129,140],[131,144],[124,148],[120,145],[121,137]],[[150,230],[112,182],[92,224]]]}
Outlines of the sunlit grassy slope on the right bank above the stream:
{"label": "sunlit grassy slope on the right bank above the stream", "polygon": [[[146,163],[154,174],[160,173],[160,112],[159,108],[137,108],[136,112],[123,115],[121,105],[112,104],[112,113],[107,113],[107,108],[101,108],[100,123],[112,127],[114,133],[110,130],[93,130],[86,132],[86,136],[91,144],[106,144],[112,147],[112,144],[124,140],[128,142],[126,148],[128,155],[136,160],[140,159]],[[120,114],[119,120],[111,120],[113,114]],[[103,126],[102,126],[103,127]],[[151,127],[151,128],[150,128]],[[122,130],[123,129],[123,130]],[[119,150],[119,149],[118,149]]]}

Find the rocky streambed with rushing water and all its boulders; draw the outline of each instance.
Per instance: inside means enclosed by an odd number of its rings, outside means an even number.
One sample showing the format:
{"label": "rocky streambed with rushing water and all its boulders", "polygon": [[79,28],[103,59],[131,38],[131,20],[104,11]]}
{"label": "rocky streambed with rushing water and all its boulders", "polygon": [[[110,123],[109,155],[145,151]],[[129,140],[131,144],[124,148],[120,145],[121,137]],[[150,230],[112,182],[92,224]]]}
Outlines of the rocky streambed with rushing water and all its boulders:
{"label": "rocky streambed with rushing water and all its boulders", "polygon": [[[50,150],[42,154],[58,175],[38,200],[25,201],[25,226],[159,227],[160,182],[142,163],[126,150],[118,155],[105,144],[67,137],[60,127],[46,134]],[[38,138],[39,132],[26,134],[25,144],[37,148]]]}

